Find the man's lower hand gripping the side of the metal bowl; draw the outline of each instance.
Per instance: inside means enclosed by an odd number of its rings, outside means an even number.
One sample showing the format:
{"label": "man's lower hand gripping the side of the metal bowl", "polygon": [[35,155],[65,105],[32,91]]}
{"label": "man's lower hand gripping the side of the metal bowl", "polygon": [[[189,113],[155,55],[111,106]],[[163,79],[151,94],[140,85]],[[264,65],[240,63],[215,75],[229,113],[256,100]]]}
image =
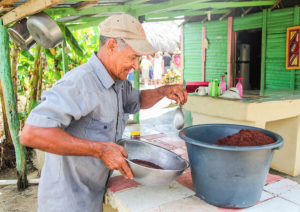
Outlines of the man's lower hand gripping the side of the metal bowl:
{"label": "man's lower hand gripping the side of the metal bowl", "polygon": [[94,142],[96,158],[101,158],[110,170],[119,170],[125,178],[133,179],[133,174],[124,157],[128,158],[125,149],[113,142]]}

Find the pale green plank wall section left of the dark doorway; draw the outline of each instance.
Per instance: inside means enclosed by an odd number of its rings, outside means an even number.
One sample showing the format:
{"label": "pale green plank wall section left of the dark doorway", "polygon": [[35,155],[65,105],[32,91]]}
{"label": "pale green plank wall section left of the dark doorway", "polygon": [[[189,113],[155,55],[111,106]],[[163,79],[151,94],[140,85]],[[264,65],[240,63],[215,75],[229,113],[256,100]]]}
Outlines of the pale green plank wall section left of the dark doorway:
{"label": "pale green plank wall section left of the dark doorway", "polygon": [[[209,47],[206,50],[205,80],[221,80],[227,73],[228,21],[211,21],[184,25],[184,79],[202,81],[202,27],[206,26]],[[227,81],[227,78],[225,78]]]}

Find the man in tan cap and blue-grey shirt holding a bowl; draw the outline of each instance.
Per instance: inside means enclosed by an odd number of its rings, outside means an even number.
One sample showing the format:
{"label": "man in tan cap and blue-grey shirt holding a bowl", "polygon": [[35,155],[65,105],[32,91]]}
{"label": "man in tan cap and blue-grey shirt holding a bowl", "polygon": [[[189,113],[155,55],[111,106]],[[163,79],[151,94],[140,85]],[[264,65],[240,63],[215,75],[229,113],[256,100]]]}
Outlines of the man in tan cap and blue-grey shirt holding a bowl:
{"label": "man in tan cap and blue-grey shirt holding a bowl", "polygon": [[115,15],[99,25],[99,51],[42,95],[30,113],[21,144],[46,153],[38,190],[39,212],[99,212],[110,170],[133,178],[116,142],[129,114],[165,96],[185,103],[182,86],[139,91],[126,80],[138,58],[156,50],[137,19]]}

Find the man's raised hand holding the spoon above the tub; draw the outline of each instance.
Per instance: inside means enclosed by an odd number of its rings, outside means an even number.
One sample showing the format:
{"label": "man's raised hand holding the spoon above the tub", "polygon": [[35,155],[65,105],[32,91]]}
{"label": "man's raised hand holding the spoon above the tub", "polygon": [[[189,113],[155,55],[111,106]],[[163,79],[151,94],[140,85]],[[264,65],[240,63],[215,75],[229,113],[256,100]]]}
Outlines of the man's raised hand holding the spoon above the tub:
{"label": "man's raised hand holding the spoon above the tub", "polygon": [[158,88],[159,92],[177,103],[185,104],[187,102],[187,92],[182,85],[169,85]]}

